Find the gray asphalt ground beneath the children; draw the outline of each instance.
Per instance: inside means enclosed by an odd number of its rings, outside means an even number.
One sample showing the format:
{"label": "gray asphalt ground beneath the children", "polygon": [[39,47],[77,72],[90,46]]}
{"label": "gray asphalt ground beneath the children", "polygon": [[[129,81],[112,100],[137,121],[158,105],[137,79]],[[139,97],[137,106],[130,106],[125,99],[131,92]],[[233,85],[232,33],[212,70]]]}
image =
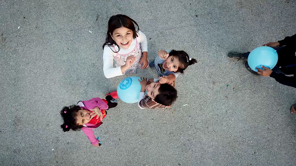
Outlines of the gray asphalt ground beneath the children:
{"label": "gray asphalt ground beneath the children", "polygon": [[[296,89],[226,57],[295,34],[295,5],[1,0],[0,165],[296,165]],[[177,49],[198,63],[177,78],[171,108],[119,101],[94,130],[97,148],[82,131],[62,131],[63,106],[103,98],[128,76],[156,77],[150,68],[104,77],[101,47],[114,14],[136,20],[150,61]]]}

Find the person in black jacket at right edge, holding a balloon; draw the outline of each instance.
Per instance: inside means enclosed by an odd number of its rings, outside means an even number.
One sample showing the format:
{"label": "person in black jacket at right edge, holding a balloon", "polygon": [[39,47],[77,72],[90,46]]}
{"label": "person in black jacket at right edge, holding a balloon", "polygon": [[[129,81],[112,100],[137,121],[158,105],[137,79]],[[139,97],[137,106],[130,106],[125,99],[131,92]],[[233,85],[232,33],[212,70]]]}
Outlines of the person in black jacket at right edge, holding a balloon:
{"label": "person in black jacket at right edge, holding a balloon", "polygon": [[[278,42],[269,42],[263,46],[273,47],[277,50],[277,65],[272,70],[261,66],[264,70],[257,68],[258,72],[255,72],[249,67],[248,62],[245,61],[245,68],[255,75],[270,76],[283,85],[296,88],[296,77],[294,76],[296,74],[296,34],[291,37],[287,36],[284,40]],[[230,52],[227,56],[238,60],[248,59],[249,53]],[[289,77],[286,75],[293,76]]]}

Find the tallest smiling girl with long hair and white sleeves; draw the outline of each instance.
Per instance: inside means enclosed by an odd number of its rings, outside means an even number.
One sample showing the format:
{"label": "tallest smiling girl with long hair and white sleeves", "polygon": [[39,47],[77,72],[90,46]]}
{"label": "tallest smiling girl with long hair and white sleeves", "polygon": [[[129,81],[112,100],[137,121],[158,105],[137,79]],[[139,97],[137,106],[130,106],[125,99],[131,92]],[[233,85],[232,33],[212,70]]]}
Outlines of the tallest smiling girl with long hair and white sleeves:
{"label": "tallest smiling girl with long hair and white sleeves", "polygon": [[[135,29],[134,24],[138,27]],[[147,38],[139,31],[137,22],[117,14],[108,22],[106,42],[103,44],[104,75],[106,78],[136,73],[137,66],[148,67]],[[113,68],[115,60],[115,68]]]}

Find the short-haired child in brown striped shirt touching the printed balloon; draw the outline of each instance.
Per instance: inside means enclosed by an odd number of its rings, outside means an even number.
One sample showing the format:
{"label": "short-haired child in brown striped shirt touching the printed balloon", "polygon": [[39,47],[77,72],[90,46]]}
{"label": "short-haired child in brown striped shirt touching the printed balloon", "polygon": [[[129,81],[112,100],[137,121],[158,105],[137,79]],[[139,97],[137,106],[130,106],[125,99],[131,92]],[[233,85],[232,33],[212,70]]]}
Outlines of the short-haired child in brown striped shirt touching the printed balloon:
{"label": "short-haired child in brown striped shirt touching the printed balloon", "polygon": [[[154,79],[154,81],[156,81]],[[141,109],[167,108],[177,99],[177,90],[169,84],[159,82],[148,83],[147,78],[139,80],[141,92],[139,95],[138,106]],[[145,91],[147,95],[145,96]]]}

